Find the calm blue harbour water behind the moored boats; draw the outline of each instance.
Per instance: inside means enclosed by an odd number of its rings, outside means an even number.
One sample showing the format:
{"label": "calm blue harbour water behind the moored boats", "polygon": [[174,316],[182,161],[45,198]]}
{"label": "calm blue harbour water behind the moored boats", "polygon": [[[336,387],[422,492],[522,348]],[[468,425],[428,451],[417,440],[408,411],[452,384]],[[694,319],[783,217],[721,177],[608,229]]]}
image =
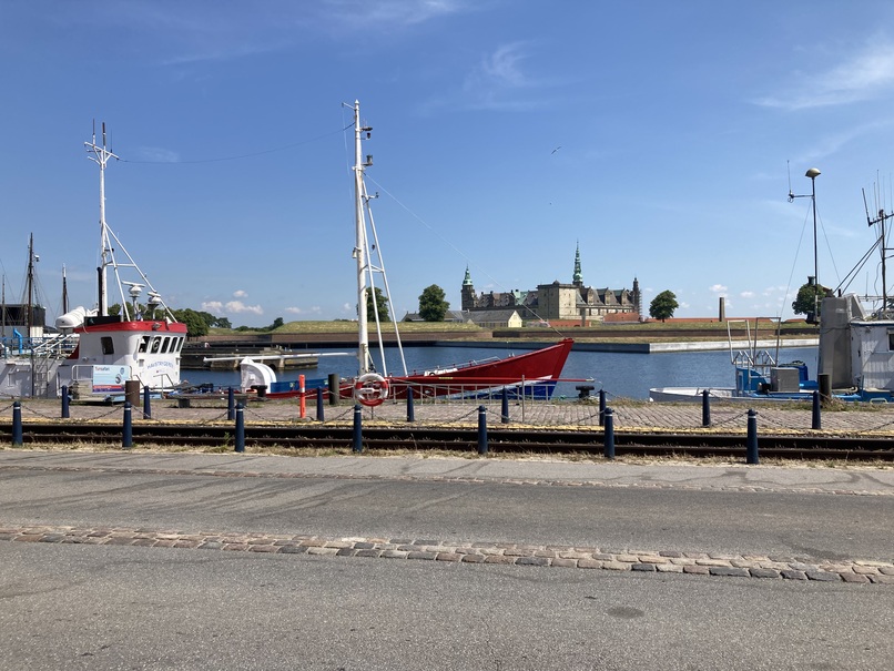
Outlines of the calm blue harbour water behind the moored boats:
{"label": "calm blue harbour water behind the moored boats", "polygon": [[[319,353],[344,352],[318,349]],[[490,349],[476,347],[405,347],[407,369],[424,370],[447,367],[470,360],[521,354],[522,349]],[[403,373],[397,348],[385,350],[388,373]],[[375,352],[378,362],[378,350]],[[802,360],[807,364],[810,376],[816,374],[815,347],[788,347],[780,350],[780,362]],[[378,364],[377,364],[378,365]],[[281,379],[295,379],[298,373],[308,378],[326,377],[337,373],[352,377],[357,373],[357,360],[352,356],[323,357],[318,368],[288,370]],[[193,384],[238,385],[238,372],[183,370],[181,376]],[[734,383],[729,352],[680,352],[667,354],[617,354],[609,352],[571,352],[565,365],[562,378],[592,378],[597,389],[605,389],[610,396],[648,398],[651,387],[711,386],[731,387]],[[576,385],[580,382],[560,382],[556,395],[576,396]]]}

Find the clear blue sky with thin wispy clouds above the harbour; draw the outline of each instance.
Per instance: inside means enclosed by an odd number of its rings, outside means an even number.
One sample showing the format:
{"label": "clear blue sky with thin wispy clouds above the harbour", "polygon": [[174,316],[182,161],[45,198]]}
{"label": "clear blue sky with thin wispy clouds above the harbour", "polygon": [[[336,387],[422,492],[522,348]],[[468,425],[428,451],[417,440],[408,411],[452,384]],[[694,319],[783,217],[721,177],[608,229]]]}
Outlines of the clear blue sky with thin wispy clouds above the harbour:
{"label": "clear blue sky with thin wispy clouds above the harbour", "polygon": [[[392,312],[437,284],[677,294],[677,316],[791,317],[892,209],[886,1],[0,0],[0,270],[28,235],[49,313],[92,305],[93,120],[106,218],[172,307],[234,325],[355,315],[352,136]],[[790,167],[789,167],[790,166]],[[875,196],[880,191],[882,195]],[[881,293],[877,256],[852,289]],[[18,293],[18,294],[17,294]]]}

